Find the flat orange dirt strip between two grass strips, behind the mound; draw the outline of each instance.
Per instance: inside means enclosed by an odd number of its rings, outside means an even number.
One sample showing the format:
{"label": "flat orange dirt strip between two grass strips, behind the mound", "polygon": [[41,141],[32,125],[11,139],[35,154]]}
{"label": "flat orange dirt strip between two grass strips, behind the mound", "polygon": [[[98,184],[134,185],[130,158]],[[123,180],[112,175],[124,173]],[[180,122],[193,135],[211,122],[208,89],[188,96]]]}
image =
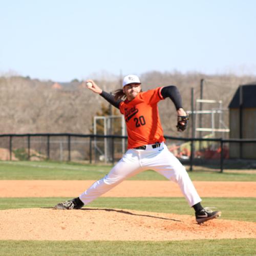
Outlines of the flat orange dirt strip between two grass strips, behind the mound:
{"label": "flat orange dirt strip between two grass strips, behind the mound", "polygon": [[[0,197],[77,197],[93,180],[0,180]],[[201,197],[256,197],[256,182],[194,181]],[[102,197],[183,197],[171,181],[123,181]]]}

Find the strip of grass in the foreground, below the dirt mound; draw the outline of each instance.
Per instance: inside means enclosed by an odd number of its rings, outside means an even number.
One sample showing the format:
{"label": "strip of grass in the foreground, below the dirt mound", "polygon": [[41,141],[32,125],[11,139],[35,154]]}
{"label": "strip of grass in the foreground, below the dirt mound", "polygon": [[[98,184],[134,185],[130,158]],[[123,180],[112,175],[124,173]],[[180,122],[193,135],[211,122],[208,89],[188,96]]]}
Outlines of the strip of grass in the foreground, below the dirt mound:
{"label": "strip of grass in the foreground, below the dirt mound", "polygon": [[0,241],[1,255],[255,255],[254,239],[147,241]]}

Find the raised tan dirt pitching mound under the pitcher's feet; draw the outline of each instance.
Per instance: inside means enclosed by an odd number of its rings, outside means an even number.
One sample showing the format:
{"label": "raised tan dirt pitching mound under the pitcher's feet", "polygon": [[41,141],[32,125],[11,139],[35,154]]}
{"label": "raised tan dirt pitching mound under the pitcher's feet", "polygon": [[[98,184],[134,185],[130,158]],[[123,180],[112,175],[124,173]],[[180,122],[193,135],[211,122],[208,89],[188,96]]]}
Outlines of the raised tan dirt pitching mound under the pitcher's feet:
{"label": "raised tan dirt pitching mound under the pitcher's feet", "polygon": [[164,241],[256,238],[255,223],[136,210],[46,208],[0,211],[0,240]]}

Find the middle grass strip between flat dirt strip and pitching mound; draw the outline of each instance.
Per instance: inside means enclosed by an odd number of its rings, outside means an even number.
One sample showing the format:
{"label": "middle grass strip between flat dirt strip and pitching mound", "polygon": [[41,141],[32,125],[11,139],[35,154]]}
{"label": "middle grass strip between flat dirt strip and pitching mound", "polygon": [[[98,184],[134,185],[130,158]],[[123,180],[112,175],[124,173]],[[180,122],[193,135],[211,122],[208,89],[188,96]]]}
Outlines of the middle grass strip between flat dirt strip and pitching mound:
{"label": "middle grass strip between flat dirt strip and pitching mound", "polygon": [[[68,198],[0,198],[0,210],[53,207]],[[254,198],[204,198],[203,206],[215,206],[222,211],[222,219],[256,222]],[[194,216],[184,198],[98,198],[89,205],[99,208],[119,208],[150,212],[165,212]]]}

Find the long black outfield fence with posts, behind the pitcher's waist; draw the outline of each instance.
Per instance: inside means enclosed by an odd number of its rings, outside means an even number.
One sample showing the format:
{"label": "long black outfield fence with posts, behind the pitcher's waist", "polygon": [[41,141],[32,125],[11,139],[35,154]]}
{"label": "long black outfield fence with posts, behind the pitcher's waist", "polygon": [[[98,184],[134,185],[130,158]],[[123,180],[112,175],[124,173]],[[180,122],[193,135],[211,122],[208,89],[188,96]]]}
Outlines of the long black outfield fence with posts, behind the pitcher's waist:
{"label": "long black outfield fence with posts, behind the pitcher's waist", "polygon": [[[167,146],[183,164],[256,168],[256,139],[181,138],[165,136]],[[114,164],[126,151],[127,137],[84,134],[3,134],[0,160],[104,161]],[[225,163],[225,164],[224,164]]]}

